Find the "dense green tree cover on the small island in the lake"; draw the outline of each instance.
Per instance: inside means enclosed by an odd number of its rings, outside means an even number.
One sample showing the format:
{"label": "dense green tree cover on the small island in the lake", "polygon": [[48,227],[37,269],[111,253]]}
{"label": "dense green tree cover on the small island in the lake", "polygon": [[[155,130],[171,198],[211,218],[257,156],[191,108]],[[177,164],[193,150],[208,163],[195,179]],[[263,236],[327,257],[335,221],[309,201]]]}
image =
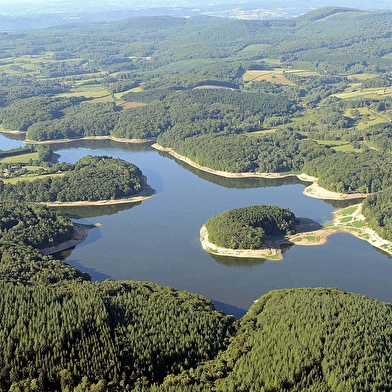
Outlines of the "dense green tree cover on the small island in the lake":
{"label": "dense green tree cover on the small island in the lake", "polygon": [[257,249],[267,236],[292,233],[297,223],[287,208],[257,205],[214,215],[205,224],[208,239],[229,249]]}

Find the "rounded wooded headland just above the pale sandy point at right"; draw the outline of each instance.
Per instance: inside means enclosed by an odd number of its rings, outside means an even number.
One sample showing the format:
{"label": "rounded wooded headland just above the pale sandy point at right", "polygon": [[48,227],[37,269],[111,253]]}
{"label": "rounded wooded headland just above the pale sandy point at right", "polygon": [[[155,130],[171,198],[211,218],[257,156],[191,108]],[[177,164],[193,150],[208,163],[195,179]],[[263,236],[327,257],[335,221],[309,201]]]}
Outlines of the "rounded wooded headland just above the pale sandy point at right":
{"label": "rounded wooded headland just above the pale sandy point at right", "polygon": [[342,193],[377,192],[391,185],[390,156],[376,151],[338,152],[316,158],[304,166],[305,173],[319,178],[319,185]]}

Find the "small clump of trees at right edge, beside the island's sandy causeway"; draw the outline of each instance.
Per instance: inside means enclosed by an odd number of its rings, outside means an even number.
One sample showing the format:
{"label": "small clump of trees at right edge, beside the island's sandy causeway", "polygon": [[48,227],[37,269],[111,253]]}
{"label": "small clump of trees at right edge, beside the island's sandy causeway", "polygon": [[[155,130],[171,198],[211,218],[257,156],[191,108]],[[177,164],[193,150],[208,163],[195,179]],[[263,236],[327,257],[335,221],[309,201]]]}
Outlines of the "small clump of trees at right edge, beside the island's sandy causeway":
{"label": "small clump of trees at right edge, beside the island's sandy causeway", "polygon": [[369,195],[362,204],[367,224],[381,237],[392,241],[392,188]]}

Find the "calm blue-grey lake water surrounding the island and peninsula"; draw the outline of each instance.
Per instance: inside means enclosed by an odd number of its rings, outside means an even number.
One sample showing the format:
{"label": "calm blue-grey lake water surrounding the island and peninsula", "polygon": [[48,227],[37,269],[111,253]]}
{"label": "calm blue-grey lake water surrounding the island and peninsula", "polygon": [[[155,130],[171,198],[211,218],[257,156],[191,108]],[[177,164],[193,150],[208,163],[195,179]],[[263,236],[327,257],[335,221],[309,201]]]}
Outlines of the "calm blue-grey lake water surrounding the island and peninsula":
{"label": "calm blue-grey lake water surrounding the island and peninsula", "polygon": [[[21,142],[0,135],[0,149],[11,148],[3,147],[7,143]],[[145,145],[90,141],[55,148],[62,162],[87,154],[130,161],[156,190],[153,198],[138,204],[61,209],[76,222],[102,224],[64,255],[67,263],[93,279],[169,285],[228,304],[233,312],[234,307],[247,309],[272,289],[288,287],[338,287],[392,302],[391,258],[350,234],[335,234],[322,246],[290,247],[281,261],[216,257],[203,251],[200,227],[227,209],[273,204],[290,208],[298,217],[331,220],[340,203],[304,196],[305,184],[296,179],[223,179]]]}

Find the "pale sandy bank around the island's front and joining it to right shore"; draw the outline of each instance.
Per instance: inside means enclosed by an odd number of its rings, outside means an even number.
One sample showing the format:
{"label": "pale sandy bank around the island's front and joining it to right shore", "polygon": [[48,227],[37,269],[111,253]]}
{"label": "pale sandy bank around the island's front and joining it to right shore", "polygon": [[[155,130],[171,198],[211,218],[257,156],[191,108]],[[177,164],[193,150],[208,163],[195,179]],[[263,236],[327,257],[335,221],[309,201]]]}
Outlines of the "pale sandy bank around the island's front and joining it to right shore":
{"label": "pale sandy bank around the island's front and joining it to right shore", "polygon": [[[346,213],[348,209],[353,209],[351,213]],[[362,203],[342,208],[333,212],[333,219],[330,223],[316,230],[307,230],[311,225],[318,225],[310,219],[302,219],[305,227],[299,226],[303,231],[293,235],[285,236],[279,240],[266,241],[266,246],[260,249],[229,249],[219,247],[208,240],[208,231],[205,225],[200,229],[200,242],[202,248],[212,254],[219,256],[230,256],[238,258],[262,258],[267,260],[282,260],[282,246],[302,245],[317,246],[327,242],[330,235],[337,233],[348,233],[354,237],[368,242],[373,247],[392,256],[392,242],[380,237],[373,229],[366,226],[366,219],[362,215]],[[307,222],[307,223],[306,223]]]}

